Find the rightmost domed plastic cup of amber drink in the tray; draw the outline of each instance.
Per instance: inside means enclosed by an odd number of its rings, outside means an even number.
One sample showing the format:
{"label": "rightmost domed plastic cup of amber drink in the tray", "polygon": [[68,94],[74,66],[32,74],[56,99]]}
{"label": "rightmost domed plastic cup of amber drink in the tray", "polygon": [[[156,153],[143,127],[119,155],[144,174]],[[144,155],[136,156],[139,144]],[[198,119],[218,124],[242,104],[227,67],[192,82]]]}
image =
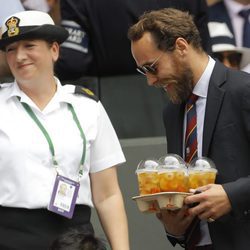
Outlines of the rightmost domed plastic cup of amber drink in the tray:
{"label": "rightmost domed plastic cup of amber drink in the tray", "polygon": [[196,189],[215,182],[217,169],[212,160],[206,157],[196,158],[188,168],[189,188]]}

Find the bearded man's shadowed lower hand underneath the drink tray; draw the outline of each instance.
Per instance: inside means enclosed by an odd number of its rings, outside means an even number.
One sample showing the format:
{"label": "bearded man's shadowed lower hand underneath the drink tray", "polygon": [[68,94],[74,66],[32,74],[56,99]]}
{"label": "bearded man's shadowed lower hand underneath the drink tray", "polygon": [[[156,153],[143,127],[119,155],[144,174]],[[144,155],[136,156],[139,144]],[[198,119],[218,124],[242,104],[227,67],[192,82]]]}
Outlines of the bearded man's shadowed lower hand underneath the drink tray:
{"label": "bearded man's shadowed lower hand underneath the drink tray", "polygon": [[194,218],[193,215],[188,215],[187,209],[187,206],[174,211],[164,209],[157,213],[156,216],[163,223],[168,233],[181,236],[185,234]]}

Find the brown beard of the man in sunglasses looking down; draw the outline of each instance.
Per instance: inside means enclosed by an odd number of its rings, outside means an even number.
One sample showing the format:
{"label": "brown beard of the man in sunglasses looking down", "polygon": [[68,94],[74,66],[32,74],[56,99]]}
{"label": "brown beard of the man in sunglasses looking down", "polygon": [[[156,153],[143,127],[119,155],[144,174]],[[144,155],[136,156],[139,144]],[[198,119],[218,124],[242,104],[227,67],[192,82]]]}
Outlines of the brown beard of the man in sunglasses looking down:
{"label": "brown beard of the man in sunglasses looking down", "polygon": [[177,65],[175,67],[177,68],[176,75],[172,74],[168,78],[162,79],[157,86],[165,89],[171,102],[181,104],[187,101],[188,97],[192,94],[194,77],[190,67],[183,65],[182,69]]}

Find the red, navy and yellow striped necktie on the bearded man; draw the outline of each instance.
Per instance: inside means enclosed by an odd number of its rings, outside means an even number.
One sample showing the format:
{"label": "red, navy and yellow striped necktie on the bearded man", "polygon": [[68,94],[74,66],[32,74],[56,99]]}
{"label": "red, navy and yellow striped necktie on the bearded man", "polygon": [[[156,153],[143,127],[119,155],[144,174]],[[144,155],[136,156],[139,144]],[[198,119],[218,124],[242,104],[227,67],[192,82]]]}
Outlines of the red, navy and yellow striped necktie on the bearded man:
{"label": "red, navy and yellow striped necktie on the bearded man", "polygon": [[198,96],[192,94],[186,103],[186,135],[185,135],[185,161],[190,163],[197,157],[197,114],[196,105]]}

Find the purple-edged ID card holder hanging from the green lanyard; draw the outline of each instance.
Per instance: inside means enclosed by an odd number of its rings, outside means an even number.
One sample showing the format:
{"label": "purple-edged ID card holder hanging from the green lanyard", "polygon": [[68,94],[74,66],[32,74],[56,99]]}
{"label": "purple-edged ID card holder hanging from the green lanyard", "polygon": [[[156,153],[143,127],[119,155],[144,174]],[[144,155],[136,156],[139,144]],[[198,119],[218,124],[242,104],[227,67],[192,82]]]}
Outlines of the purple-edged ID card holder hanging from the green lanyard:
{"label": "purple-edged ID card holder hanging from the green lanyard", "polygon": [[72,218],[80,184],[61,175],[56,176],[48,210]]}

